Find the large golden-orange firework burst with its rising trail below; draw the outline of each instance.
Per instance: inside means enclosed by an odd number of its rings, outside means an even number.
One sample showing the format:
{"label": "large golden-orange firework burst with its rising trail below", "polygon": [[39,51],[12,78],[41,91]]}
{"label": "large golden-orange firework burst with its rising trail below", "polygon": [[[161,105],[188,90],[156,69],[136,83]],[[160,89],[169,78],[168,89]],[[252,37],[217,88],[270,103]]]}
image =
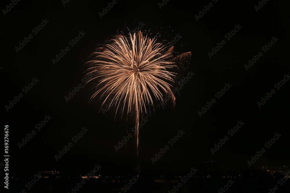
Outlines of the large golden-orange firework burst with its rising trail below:
{"label": "large golden-orange firework burst with its rising trail below", "polygon": [[[115,105],[115,111],[133,120],[138,154],[139,119],[147,117],[150,105],[169,97],[173,106],[175,97],[171,91],[181,68],[189,61],[191,53],[173,55],[173,46],[167,51],[162,43],[156,43],[141,32],[112,39],[98,48],[88,65],[87,74],[97,74],[88,82],[97,83],[90,100],[99,97],[104,104]],[[87,82],[87,83],[88,83]],[[101,106],[101,108],[102,108]],[[154,108],[154,107],[153,107]],[[153,109],[154,110],[154,109]],[[150,114],[150,112],[149,112]]]}

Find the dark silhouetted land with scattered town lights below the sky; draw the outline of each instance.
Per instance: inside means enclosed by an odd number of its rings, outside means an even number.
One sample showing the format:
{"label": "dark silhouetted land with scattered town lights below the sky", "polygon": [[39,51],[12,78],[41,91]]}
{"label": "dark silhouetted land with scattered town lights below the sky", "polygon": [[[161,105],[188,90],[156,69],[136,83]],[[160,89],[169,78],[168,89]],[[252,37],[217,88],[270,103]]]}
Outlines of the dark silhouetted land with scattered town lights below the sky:
{"label": "dark silhouetted land with scattered town lights below the sky", "polygon": [[[183,173],[186,176],[187,172]],[[191,177],[188,180],[172,178],[167,174],[164,178],[153,178],[149,169],[142,173],[134,172],[131,177],[100,177],[99,179],[81,178],[40,178],[33,185],[31,179],[11,179],[10,192],[27,193],[168,193],[168,192],[235,192],[235,193],[290,193],[290,179],[276,172],[271,176],[262,170],[244,170],[239,178],[222,178],[219,174],[213,177]],[[1,188],[4,188],[1,181]],[[276,189],[276,190],[275,190]]]}

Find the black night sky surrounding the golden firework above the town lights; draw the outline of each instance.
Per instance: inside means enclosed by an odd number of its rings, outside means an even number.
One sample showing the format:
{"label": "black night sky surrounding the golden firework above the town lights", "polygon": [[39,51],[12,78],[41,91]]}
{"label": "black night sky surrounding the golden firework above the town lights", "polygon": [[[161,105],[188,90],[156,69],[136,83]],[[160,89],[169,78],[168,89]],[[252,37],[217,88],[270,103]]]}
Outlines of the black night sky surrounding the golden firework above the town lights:
{"label": "black night sky surrounding the golden firework above the town lights", "polygon": [[[267,1],[258,11],[258,1],[171,0],[161,9],[161,0],[116,2],[102,18],[99,12],[112,1],[69,1],[65,6],[62,1],[19,1],[2,13],[1,123],[2,127],[9,125],[11,172],[33,175],[59,170],[63,175],[79,175],[99,164],[101,175],[132,174],[139,163],[139,168],[150,168],[154,174],[178,174],[210,159],[221,168],[290,166],[290,81],[276,85],[290,73],[289,2]],[[1,8],[6,9],[9,3],[3,1]],[[195,15],[209,3],[212,7],[197,18]],[[137,159],[134,137],[117,152],[114,148],[127,130],[132,133],[134,124],[119,114],[115,118],[114,111],[99,112],[101,103],[97,100],[89,104],[94,91],[91,86],[79,89],[68,102],[65,96],[84,85],[84,64],[90,61],[90,54],[117,32],[128,34],[139,22],[145,24],[142,32],[150,31],[152,37],[160,33],[160,42],[171,42],[180,34],[175,51],[192,53],[186,72],[195,74],[175,94],[174,111],[171,106],[156,109],[140,128]],[[45,25],[35,34],[33,29],[41,23]],[[226,36],[234,29],[232,37]],[[79,32],[84,35],[72,47],[70,41]],[[17,50],[19,42],[30,34],[33,38]],[[276,42],[263,50],[272,37]],[[226,43],[209,57],[212,48],[223,40]],[[70,50],[54,64],[52,59],[67,46]],[[256,63],[245,67],[259,52],[262,56]],[[33,78],[37,83],[29,91],[23,90]],[[218,96],[225,84],[231,87]],[[275,93],[259,107],[258,102],[272,89]],[[7,111],[5,106],[19,93],[23,97]],[[216,102],[200,116],[198,111],[212,99]],[[52,118],[35,129],[46,115]],[[230,136],[228,131],[238,121],[243,126]],[[75,143],[72,137],[85,127],[88,131]],[[36,134],[19,148],[22,138],[32,130]],[[153,164],[151,158],[179,130],[185,133]],[[247,161],[265,148],[275,133],[281,137],[249,167]],[[225,136],[229,140],[213,155],[211,148]],[[70,142],[73,146],[57,161],[55,155]]]}

